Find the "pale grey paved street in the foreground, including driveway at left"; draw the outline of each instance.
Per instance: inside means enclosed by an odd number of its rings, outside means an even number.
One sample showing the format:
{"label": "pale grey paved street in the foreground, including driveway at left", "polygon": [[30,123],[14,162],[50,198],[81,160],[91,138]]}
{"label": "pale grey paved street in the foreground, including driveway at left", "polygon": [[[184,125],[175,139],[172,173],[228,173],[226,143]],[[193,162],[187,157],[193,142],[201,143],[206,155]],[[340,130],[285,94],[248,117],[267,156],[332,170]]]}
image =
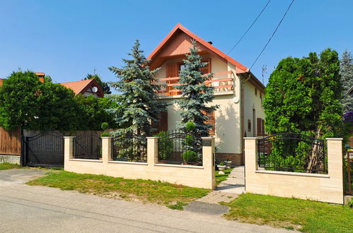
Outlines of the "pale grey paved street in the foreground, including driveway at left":
{"label": "pale grey paved street in the foreground, including driveway at left", "polygon": [[24,184],[44,172],[0,171],[1,232],[287,232],[217,215]]}

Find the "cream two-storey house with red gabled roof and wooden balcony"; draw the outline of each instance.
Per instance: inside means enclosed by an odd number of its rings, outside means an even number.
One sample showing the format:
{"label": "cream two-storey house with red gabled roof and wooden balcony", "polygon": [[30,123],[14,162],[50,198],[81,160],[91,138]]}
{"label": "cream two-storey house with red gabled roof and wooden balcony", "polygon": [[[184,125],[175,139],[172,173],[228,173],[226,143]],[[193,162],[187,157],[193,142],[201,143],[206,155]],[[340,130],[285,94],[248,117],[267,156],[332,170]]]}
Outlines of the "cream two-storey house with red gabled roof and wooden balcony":
{"label": "cream two-storey house with red gabled roof and wooden balcony", "polygon": [[158,92],[161,101],[169,102],[168,112],[161,114],[158,122],[159,131],[175,130],[181,121],[178,104],[173,100],[181,98],[179,90],[174,88],[178,83],[178,73],[183,67],[185,54],[192,46],[191,40],[197,41],[202,61],[207,61],[204,73],[214,73],[208,85],[214,87],[214,101],[219,109],[209,114],[207,124],[212,124],[210,135],[216,136],[216,159],[229,158],[235,165],[243,165],[243,137],[261,136],[265,133],[265,112],[262,98],[265,86],[250,72],[250,69],[212,45],[202,40],[183,25],[175,28],[158,44],[148,56],[150,68],[161,68],[156,74],[159,83],[166,87]]}

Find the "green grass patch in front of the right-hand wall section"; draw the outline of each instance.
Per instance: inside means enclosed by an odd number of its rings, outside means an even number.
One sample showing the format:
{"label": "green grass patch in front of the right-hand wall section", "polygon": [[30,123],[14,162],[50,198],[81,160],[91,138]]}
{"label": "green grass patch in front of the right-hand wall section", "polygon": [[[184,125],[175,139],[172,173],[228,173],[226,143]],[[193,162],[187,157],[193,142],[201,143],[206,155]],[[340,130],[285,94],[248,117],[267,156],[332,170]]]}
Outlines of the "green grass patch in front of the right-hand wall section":
{"label": "green grass patch in front of the right-hand wall section", "polygon": [[231,210],[228,220],[272,225],[301,232],[353,232],[353,209],[296,198],[279,198],[245,193],[222,203]]}

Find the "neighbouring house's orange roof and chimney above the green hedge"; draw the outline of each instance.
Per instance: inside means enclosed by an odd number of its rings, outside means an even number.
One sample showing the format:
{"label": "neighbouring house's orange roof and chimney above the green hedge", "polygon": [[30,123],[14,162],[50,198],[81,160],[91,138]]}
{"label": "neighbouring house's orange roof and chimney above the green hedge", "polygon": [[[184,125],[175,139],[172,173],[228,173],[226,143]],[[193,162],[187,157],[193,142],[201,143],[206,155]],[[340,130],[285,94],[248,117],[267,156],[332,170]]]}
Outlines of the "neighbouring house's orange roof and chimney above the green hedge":
{"label": "neighbouring house's orange roof and chimney above the green hedge", "polygon": [[[44,83],[45,73],[35,73],[40,82]],[[0,78],[0,87],[3,83],[3,79]],[[94,97],[104,97],[103,89],[100,87],[96,79],[80,80],[68,83],[60,83],[66,88],[69,88],[75,92],[76,95],[82,94],[84,96],[93,95]]]}

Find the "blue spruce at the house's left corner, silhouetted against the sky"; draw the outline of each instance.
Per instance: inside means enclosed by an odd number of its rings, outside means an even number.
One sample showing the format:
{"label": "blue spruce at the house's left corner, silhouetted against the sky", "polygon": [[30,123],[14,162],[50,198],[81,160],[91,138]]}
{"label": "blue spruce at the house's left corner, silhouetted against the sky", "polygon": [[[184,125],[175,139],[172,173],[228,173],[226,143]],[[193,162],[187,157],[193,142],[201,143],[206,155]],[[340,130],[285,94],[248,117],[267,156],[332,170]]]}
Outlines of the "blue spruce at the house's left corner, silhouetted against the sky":
{"label": "blue spruce at the house's left corner, silhouetted against the sky", "polygon": [[[149,69],[149,60],[139,46],[137,40],[128,54],[132,59],[122,59],[126,64],[124,67],[109,68],[119,79],[110,85],[120,92],[120,101],[124,104],[123,114],[115,117],[123,128],[118,133],[134,131],[149,136],[153,131],[151,126],[158,121],[160,112],[165,111],[166,103],[157,101],[156,92],[161,90],[155,78],[158,70]],[[114,112],[115,109],[109,111]]]}

